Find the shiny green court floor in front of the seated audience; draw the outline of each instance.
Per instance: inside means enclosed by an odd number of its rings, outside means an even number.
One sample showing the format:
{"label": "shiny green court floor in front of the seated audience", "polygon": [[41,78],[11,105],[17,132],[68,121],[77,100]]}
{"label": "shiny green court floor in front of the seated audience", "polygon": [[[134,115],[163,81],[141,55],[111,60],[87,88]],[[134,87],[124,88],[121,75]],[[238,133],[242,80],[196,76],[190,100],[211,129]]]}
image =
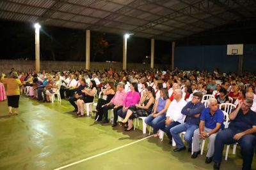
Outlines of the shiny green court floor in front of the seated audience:
{"label": "shiny green court floor in front of the seated audience", "polygon": [[[38,103],[22,96],[19,115],[12,117],[6,105],[0,102],[0,169],[55,169],[148,136],[141,127],[124,132],[122,127],[95,124],[91,117],[76,117],[65,100]],[[172,150],[166,137],[163,142],[150,137],[66,169],[212,169],[213,164],[204,163],[205,153],[191,159],[188,152]],[[238,147],[221,169],[241,169],[241,164]]]}

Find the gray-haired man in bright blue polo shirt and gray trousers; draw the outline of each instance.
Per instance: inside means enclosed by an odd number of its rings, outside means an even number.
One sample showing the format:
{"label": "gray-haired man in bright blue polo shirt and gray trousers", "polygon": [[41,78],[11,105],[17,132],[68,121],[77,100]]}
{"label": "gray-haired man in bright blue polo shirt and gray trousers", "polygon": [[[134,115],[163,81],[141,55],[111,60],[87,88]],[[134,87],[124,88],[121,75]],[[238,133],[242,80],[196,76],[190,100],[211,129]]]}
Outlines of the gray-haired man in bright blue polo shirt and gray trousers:
{"label": "gray-haired man in bright blue polo shirt and gray trousers", "polygon": [[223,112],[218,108],[218,102],[215,98],[210,98],[208,101],[208,108],[202,111],[200,116],[199,128],[195,130],[193,136],[193,155],[192,159],[195,159],[200,153],[200,138],[209,138],[208,151],[206,154],[205,163],[210,164],[212,162],[212,155],[214,153],[214,141],[216,133],[223,127]]}

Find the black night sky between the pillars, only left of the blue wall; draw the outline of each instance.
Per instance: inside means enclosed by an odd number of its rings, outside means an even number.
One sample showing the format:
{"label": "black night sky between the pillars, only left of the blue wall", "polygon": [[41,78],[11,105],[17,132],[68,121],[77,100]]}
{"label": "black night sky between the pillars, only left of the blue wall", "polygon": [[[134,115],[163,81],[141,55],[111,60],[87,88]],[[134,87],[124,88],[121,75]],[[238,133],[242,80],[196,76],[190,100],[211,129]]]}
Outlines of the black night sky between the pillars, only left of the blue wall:
{"label": "black night sky between the pillars, only left of the blue wall", "polygon": [[[0,21],[1,59],[35,59],[33,24]],[[77,29],[42,25],[40,29],[41,60],[85,60],[86,32]],[[106,43],[108,45],[106,45]],[[171,43],[155,41],[155,62],[170,63]],[[91,32],[91,61],[122,62],[123,35]],[[150,39],[130,36],[127,40],[127,62],[150,62]]]}

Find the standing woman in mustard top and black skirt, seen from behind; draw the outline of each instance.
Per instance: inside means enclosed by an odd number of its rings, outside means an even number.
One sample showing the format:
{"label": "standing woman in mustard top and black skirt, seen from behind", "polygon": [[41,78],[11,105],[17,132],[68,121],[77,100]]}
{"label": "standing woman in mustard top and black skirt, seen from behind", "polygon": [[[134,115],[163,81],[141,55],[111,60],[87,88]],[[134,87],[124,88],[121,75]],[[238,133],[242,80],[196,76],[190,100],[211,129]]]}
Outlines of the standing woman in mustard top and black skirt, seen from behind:
{"label": "standing woman in mustard top and black skirt, seen from behind", "polygon": [[20,86],[22,85],[22,83],[18,79],[18,74],[15,71],[10,74],[10,78],[4,78],[4,76],[5,74],[2,74],[1,82],[7,85],[9,115],[12,115],[12,108],[14,108],[14,114],[18,115]]}

